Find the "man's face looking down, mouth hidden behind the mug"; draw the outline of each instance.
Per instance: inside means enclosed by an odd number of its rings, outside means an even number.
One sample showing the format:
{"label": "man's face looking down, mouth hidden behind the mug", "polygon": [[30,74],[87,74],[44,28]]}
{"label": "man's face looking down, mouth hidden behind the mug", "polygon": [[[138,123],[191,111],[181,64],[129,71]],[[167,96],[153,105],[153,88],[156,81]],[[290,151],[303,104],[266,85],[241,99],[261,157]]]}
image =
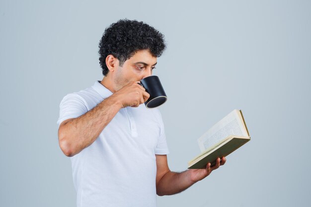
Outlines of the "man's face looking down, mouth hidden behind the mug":
{"label": "man's face looking down, mouth hidden behind the mug", "polygon": [[117,91],[130,81],[139,81],[152,75],[156,66],[156,57],[152,56],[149,50],[140,50],[129,60],[126,60],[122,67],[117,61],[117,68],[114,71],[114,89]]}

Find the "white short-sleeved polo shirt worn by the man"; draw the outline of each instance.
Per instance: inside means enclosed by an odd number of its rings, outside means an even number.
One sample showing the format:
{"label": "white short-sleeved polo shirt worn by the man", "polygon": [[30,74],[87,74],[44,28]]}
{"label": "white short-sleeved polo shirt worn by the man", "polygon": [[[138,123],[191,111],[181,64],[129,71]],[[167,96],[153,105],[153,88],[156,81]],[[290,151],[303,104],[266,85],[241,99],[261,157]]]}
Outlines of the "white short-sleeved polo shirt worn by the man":
{"label": "white short-sleeved polo shirt worn by the man", "polygon": [[[112,95],[96,81],[67,94],[57,124]],[[156,207],[156,154],[168,154],[157,108],[122,108],[88,147],[71,157],[78,207]]]}

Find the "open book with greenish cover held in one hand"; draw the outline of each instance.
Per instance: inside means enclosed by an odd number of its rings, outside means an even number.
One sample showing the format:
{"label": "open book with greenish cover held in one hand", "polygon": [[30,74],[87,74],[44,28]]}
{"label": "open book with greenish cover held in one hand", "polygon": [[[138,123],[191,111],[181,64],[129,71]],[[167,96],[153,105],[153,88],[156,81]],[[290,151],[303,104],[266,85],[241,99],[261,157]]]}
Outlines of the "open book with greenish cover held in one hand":
{"label": "open book with greenish cover held in one hand", "polygon": [[234,109],[198,139],[201,154],[188,162],[188,169],[203,169],[207,163],[215,165],[250,140],[241,110]]}

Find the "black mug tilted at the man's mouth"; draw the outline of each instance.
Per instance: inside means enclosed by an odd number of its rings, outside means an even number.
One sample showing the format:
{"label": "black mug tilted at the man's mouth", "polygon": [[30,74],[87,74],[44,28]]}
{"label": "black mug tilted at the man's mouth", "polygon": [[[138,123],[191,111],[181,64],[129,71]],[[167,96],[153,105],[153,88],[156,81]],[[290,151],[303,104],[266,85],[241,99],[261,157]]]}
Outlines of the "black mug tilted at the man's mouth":
{"label": "black mug tilted at the man's mouth", "polygon": [[146,92],[150,94],[149,99],[145,102],[147,108],[156,108],[166,102],[167,96],[158,76],[151,75],[145,77],[138,84],[142,85]]}

